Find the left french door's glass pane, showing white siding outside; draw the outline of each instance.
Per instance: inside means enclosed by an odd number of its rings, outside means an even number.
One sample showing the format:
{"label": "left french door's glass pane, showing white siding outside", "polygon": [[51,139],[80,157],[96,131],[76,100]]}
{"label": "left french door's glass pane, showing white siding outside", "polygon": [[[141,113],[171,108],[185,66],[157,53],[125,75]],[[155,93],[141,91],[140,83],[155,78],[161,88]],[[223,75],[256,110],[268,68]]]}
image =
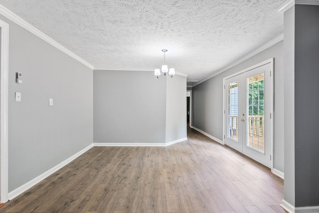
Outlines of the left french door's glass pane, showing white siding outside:
{"label": "left french door's glass pane, showing white siding outside", "polygon": [[227,137],[238,142],[238,81],[227,85],[228,125]]}

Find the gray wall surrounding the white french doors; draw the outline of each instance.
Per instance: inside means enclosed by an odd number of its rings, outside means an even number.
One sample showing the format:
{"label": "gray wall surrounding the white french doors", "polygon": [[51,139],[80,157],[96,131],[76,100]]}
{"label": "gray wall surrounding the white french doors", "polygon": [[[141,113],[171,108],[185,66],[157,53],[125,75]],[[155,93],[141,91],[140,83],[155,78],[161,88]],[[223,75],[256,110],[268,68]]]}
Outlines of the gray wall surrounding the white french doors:
{"label": "gray wall surrounding the white french doors", "polygon": [[223,78],[269,58],[274,68],[274,168],[284,172],[284,58],[283,41],[193,87],[193,126],[223,140]]}

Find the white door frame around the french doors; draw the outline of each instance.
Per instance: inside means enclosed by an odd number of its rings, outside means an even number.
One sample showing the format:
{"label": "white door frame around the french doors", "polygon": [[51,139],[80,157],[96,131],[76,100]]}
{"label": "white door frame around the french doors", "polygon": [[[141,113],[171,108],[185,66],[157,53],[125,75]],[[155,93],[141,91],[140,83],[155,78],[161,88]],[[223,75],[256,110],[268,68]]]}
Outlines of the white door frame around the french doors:
{"label": "white door frame around the french doors", "polygon": [[[223,113],[223,135],[224,135],[224,138],[223,138],[223,142],[224,142],[224,144],[225,144],[225,135],[226,135],[226,132],[227,132],[227,130],[225,129],[225,112],[226,112],[226,107],[227,106],[225,106],[225,87],[226,87],[226,85],[225,85],[225,80],[226,79],[228,79],[228,78],[231,78],[231,77],[234,77],[234,76],[236,76],[236,75],[240,75],[240,74],[242,74],[242,73],[244,73],[244,72],[247,72],[247,71],[249,71],[249,70],[252,70],[252,69],[255,69],[255,68],[257,68],[257,67],[260,67],[260,66],[263,66],[263,65],[265,65],[265,64],[268,64],[268,63],[271,63],[272,64],[272,66],[271,66],[271,75],[272,75],[272,82],[271,82],[271,93],[274,95],[274,58],[270,58],[270,59],[268,59],[268,60],[265,60],[265,61],[263,61],[263,62],[261,62],[261,63],[258,63],[258,64],[256,64],[256,65],[254,65],[254,66],[251,66],[251,67],[249,67],[249,68],[247,68],[247,69],[244,69],[244,70],[242,70],[242,71],[239,71],[239,72],[236,72],[236,73],[234,73],[234,74],[232,74],[232,75],[229,75],[229,76],[227,76],[227,77],[225,77],[224,79],[223,79],[223,87],[224,87],[224,89],[223,89],[223,109],[224,109],[224,113]],[[272,107],[272,109],[270,110],[270,113],[271,113],[271,115],[272,115],[272,119],[271,119],[271,124],[270,124],[270,126],[271,126],[271,132],[269,133],[270,134],[270,139],[271,139],[271,142],[270,142],[270,146],[271,146],[271,171],[273,172],[273,169],[274,169],[274,99],[272,98],[271,100],[271,106],[273,106]]]}

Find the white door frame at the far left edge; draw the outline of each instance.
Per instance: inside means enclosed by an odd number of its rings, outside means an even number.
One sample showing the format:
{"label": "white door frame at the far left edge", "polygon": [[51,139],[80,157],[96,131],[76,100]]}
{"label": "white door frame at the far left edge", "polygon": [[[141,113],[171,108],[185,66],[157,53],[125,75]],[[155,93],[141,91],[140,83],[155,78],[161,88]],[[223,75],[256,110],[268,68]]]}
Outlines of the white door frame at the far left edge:
{"label": "white door frame at the far left edge", "polygon": [[9,25],[0,20],[0,203],[8,201],[8,52]]}

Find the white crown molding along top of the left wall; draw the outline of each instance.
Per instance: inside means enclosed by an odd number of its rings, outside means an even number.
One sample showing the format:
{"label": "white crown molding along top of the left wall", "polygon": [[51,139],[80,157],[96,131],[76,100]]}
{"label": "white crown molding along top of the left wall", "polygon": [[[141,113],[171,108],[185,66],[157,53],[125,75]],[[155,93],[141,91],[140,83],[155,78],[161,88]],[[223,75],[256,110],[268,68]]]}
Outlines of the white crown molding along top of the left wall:
{"label": "white crown molding along top of the left wall", "polygon": [[20,25],[21,27],[28,30],[29,32],[33,33],[34,35],[38,36],[39,38],[46,41],[47,43],[51,44],[55,48],[61,50],[65,54],[71,56],[75,60],[81,62],[82,64],[89,67],[90,69],[92,69],[92,70],[94,69],[93,65],[91,65],[90,63],[88,63],[84,59],[80,58],[79,56],[77,56],[76,54],[74,54],[73,52],[71,52],[70,50],[68,50],[67,48],[65,48],[61,44],[59,44],[58,42],[54,41],[52,38],[50,38],[49,36],[47,36],[46,34],[41,32],[40,30],[36,29],[34,26],[29,24],[28,22],[26,22],[25,20],[23,20],[22,18],[20,18],[19,16],[17,16],[13,12],[11,12],[10,10],[8,10],[4,6],[2,6],[1,4],[0,4],[0,14],[5,16],[6,18],[10,19],[14,23]]}

